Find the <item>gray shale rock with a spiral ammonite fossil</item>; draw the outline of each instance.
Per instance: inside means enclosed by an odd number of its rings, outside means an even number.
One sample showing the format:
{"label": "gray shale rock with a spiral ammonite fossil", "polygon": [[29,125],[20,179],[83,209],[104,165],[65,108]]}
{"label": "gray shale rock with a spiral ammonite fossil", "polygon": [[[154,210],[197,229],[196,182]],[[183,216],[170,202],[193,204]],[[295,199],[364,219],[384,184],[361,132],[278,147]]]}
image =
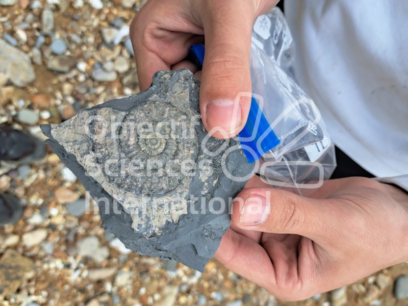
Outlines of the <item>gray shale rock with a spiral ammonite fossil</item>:
{"label": "gray shale rock with a spiral ammonite fossil", "polygon": [[41,129],[98,203],[107,231],[138,253],[199,271],[214,256],[230,225],[229,205],[254,168],[237,138],[207,134],[199,82],[186,69],[159,71],[144,92]]}

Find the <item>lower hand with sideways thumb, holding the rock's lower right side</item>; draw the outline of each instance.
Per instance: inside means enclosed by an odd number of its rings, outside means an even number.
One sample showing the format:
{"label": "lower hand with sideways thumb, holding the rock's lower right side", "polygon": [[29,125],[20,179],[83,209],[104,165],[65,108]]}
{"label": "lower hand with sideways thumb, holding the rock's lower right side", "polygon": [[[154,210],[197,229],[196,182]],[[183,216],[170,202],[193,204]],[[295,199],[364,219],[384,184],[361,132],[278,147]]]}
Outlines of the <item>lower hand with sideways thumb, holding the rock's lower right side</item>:
{"label": "lower hand with sideways thumb, holding the rock's lower right side", "polygon": [[364,177],[327,181],[310,198],[268,186],[254,176],[234,200],[216,258],[276,297],[305,299],[408,260],[402,190]]}

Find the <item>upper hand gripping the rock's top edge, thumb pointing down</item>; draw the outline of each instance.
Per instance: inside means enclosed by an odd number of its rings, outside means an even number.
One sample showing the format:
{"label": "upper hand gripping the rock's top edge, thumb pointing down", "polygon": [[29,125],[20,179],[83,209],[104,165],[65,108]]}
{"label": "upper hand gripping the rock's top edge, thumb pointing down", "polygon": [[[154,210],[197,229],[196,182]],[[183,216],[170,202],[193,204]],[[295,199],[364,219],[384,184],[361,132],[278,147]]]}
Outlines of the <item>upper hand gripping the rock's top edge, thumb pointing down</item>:
{"label": "upper hand gripping the rock's top edge, thumb pointing down", "polygon": [[[197,67],[184,59],[192,44],[206,42],[200,112],[213,136],[237,135],[246,123],[251,92],[249,57],[252,24],[278,0],[149,0],[131,24],[140,89],[158,70]],[[215,130],[213,130],[215,129]],[[223,133],[216,132],[220,129]]]}

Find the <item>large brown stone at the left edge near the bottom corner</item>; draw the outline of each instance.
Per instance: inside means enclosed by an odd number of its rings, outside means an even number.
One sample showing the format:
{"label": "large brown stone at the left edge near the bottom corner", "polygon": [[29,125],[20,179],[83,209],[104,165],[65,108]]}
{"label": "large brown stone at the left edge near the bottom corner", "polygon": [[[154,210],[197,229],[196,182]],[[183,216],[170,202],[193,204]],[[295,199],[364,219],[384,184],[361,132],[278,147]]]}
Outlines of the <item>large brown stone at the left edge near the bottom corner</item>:
{"label": "large brown stone at the left edge near the bottom corner", "polygon": [[26,278],[34,275],[34,263],[13,249],[8,249],[0,259],[0,284],[2,297],[14,294]]}

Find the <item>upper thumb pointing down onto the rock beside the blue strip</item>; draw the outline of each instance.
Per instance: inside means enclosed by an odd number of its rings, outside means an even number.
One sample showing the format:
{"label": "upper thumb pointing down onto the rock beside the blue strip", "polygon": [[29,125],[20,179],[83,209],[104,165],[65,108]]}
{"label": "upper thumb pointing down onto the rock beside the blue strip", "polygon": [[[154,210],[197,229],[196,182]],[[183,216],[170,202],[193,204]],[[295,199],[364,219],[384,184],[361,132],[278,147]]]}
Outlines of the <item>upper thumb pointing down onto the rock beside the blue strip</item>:
{"label": "upper thumb pointing down onto the rock beside the blue strip", "polygon": [[[256,8],[243,0],[203,1],[201,18],[206,38],[200,111],[215,137],[237,135],[246,123],[251,92],[249,71],[251,31]],[[217,132],[218,131],[218,132]]]}

